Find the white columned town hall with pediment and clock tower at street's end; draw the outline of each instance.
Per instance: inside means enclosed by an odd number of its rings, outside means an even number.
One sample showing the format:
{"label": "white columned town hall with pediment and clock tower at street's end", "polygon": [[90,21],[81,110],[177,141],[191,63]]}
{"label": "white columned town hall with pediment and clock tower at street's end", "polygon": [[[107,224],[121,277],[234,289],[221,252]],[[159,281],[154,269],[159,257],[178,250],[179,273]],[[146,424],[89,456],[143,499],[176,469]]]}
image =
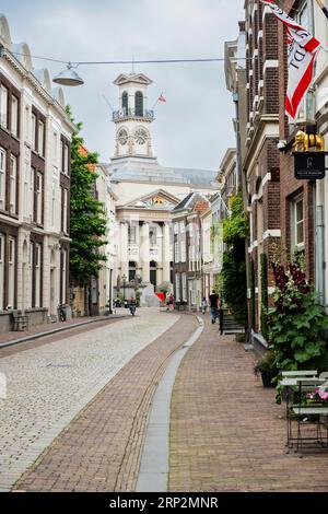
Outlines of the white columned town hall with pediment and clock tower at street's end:
{"label": "white columned town hall with pediment and clock tower at street's end", "polygon": [[[162,166],[153,153],[148,108],[148,87],[152,81],[143,73],[120,74],[119,108],[113,113],[116,125],[115,152],[109,164],[116,201],[117,266],[116,294],[144,288],[147,304],[162,282],[172,282],[173,230],[171,211],[192,191],[213,192],[215,172]],[[130,294],[130,293],[129,293]]]}

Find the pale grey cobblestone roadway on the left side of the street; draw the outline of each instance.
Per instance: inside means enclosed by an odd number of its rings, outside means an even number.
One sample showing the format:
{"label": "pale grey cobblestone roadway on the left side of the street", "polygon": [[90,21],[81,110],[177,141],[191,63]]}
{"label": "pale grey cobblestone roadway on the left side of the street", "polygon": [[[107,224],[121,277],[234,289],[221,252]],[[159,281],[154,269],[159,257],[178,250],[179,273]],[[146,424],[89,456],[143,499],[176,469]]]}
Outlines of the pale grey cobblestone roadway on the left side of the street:
{"label": "pale grey cobblestone roadway on the left side of the street", "polygon": [[1,359],[8,397],[0,400],[0,488],[10,489],[110,378],[177,320],[149,309]]}

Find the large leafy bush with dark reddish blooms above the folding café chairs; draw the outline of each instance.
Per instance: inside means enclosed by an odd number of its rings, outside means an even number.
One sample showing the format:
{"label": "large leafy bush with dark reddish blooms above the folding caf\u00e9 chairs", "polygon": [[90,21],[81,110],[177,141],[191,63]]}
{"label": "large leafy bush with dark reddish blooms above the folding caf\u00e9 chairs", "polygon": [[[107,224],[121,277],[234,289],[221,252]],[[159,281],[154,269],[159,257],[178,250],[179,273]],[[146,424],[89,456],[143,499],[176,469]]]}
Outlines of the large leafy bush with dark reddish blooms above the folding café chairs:
{"label": "large leafy bush with dark reddish blooms above the folding caf\u00e9 chairs", "polygon": [[[272,262],[276,288],[274,307],[269,309],[269,342],[281,371],[320,367],[327,360],[327,342],[323,336],[328,327],[325,309],[317,304],[303,271],[303,256],[295,254],[285,266]],[[277,390],[277,400],[280,402]]]}

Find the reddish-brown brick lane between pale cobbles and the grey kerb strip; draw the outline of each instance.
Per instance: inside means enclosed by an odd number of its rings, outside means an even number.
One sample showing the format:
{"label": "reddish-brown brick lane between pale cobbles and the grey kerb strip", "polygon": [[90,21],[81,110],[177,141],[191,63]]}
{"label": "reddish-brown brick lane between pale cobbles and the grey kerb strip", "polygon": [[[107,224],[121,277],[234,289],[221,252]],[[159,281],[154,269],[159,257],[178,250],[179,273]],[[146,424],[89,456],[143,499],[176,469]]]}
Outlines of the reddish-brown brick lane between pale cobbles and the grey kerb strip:
{"label": "reddish-brown brick lane between pale cobbles and the grey kerb strip", "polygon": [[149,406],[169,355],[197,327],[181,316],[139,352],[16,482],[20,491],[132,491]]}

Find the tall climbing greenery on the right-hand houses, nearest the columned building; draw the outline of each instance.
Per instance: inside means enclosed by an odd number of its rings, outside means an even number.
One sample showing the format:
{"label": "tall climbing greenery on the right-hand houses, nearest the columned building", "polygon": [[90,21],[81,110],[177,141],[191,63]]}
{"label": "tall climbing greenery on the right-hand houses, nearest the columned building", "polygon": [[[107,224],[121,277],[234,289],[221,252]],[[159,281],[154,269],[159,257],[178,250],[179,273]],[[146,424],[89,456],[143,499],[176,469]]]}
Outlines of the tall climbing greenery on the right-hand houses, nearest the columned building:
{"label": "tall climbing greenery on the right-hand houses, nearest the columned building", "polygon": [[245,238],[248,234],[248,221],[243,212],[243,197],[235,195],[230,201],[231,215],[223,223],[222,293],[235,320],[247,327],[247,294]]}

